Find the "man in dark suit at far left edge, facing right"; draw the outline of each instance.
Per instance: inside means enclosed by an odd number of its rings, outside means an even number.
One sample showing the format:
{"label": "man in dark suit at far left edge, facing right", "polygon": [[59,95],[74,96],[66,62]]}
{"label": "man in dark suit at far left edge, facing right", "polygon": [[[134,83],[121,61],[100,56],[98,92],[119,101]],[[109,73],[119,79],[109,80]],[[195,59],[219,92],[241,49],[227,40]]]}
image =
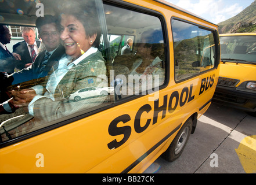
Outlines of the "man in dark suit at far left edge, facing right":
{"label": "man in dark suit at far left edge, facing right", "polygon": [[15,58],[8,51],[6,44],[10,43],[10,31],[5,25],[0,25],[0,71],[13,73]]}

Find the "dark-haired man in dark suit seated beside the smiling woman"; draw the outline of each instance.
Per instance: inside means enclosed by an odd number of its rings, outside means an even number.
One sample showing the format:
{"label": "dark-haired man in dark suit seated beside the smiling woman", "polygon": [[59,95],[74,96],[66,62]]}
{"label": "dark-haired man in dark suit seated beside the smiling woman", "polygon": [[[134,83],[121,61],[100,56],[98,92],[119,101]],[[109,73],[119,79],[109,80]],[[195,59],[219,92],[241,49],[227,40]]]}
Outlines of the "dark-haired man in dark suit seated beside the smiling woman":
{"label": "dark-haired man in dark suit seated beside the smiling woman", "polygon": [[[65,54],[65,49],[60,44],[60,29],[57,19],[53,16],[45,15],[45,17],[38,17],[36,25],[46,50],[39,53],[34,64],[30,67],[9,75],[8,79],[13,79],[12,84],[45,77],[54,66],[57,66],[60,58]],[[11,101],[2,103],[0,110],[1,108],[3,111],[0,111],[0,113],[12,113],[15,110]]]}

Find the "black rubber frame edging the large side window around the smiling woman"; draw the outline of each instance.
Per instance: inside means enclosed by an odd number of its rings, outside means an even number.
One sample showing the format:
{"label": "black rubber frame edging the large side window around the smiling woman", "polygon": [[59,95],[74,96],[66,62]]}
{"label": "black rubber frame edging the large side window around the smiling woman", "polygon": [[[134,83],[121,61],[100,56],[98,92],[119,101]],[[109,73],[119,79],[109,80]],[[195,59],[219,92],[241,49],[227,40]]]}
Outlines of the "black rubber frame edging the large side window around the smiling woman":
{"label": "black rubber frame edging the large side window around the smiling woman", "polygon": [[[165,67],[165,80],[164,80],[163,85],[159,86],[159,90],[167,87],[168,83],[170,82],[170,46],[169,46],[167,23],[165,21],[165,18],[163,16],[163,14],[161,14],[160,12],[157,12],[156,10],[147,9],[147,8],[142,7],[142,6],[134,5],[134,4],[131,4],[131,3],[128,3],[128,2],[120,2],[120,1],[116,1],[116,0],[114,0],[114,1],[103,0],[102,5],[104,5],[104,4],[109,4],[111,6],[116,6],[118,8],[132,10],[132,11],[135,11],[135,12],[138,12],[138,13],[148,14],[150,16],[155,16],[160,20],[162,31],[163,31],[164,43],[165,43],[165,45],[164,45],[165,46],[164,47],[164,52],[165,52],[165,62],[164,62],[164,65],[165,65],[164,66]],[[104,25],[102,25],[103,27],[105,27],[103,29],[107,29],[106,28],[106,19],[104,19],[103,21],[105,23]],[[109,61],[107,61],[107,62],[109,62]],[[107,70],[109,70],[109,69],[107,69]],[[108,76],[108,78],[109,78],[109,76]],[[146,94],[146,95],[148,95],[148,94]],[[40,128],[40,129],[37,129],[37,130],[32,131],[32,132],[28,132],[24,135],[20,135],[20,136],[17,136],[16,138],[6,140],[5,142],[0,143],[0,149],[3,148],[3,147],[9,146],[9,145],[13,145],[17,142],[21,142],[23,140],[33,138],[34,136],[44,134],[45,132],[52,131],[53,129],[63,127],[64,125],[72,124],[75,121],[85,119],[86,117],[89,117],[93,114],[100,113],[104,110],[113,108],[114,106],[121,105],[123,103],[132,101],[134,99],[137,99],[137,98],[140,98],[140,97],[143,97],[143,96],[145,96],[145,95],[142,95],[141,93],[139,95],[131,95],[131,96],[125,98],[125,99],[121,99],[120,101],[111,103],[110,105],[104,105],[103,104],[103,106],[99,106],[99,108],[97,108],[95,110],[91,110],[89,112],[79,114],[78,116],[75,116],[75,117],[68,117],[68,118],[57,120],[57,121],[55,120],[55,121],[53,121],[53,124],[48,125],[47,127]]]}

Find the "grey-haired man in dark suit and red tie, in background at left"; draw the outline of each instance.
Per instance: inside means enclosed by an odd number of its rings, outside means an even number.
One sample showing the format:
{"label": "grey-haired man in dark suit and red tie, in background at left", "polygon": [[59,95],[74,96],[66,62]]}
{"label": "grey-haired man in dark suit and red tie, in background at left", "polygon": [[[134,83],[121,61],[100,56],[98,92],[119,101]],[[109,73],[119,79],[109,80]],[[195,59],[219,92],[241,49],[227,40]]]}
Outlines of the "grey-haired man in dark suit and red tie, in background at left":
{"label": "grey-haired man in dark suit and red tie, in background at left", "polygon": [[13,56],[16,60],[20,60],[17,62],[16,68],[21,70],[34,63],[41,41],[35,40],[34,27],[20,27],[20,31],[24,41],[13,45]]}

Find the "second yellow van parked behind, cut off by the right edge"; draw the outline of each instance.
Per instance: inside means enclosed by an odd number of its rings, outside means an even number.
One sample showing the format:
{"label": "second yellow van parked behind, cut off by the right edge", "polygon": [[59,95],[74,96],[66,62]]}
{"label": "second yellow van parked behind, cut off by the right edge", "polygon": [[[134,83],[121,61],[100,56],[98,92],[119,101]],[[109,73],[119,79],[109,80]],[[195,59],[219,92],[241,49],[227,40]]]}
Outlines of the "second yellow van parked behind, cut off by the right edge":
{"label": "second yellow van parked behind, cut off by the right edge", "polygon": [[214,101],[256,116],[256,34],[221,34],[221,64]]}

